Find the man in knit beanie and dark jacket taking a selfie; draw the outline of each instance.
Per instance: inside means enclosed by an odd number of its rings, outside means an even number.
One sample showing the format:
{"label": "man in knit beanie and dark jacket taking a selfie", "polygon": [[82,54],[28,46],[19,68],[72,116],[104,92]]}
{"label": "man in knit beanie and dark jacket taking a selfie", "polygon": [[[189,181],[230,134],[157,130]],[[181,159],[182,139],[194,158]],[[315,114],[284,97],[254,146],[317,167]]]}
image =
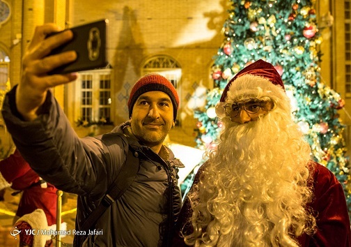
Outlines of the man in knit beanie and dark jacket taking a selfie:
{"label": "man in knit beanie and dark jacket taking a selfie", "polygon": [[[21,82],[3,104],[17,149],[45,181],[79,195],[75,230],[83,236],[75,235],[75,246],[170,246],[181,207],[176,167],[182,164],[162,143],[176,121],[176,89],[161,75],[141,77],[127,103],[130,121],[111,133],[79,138],[49,90],[77,79],[75,73],[48,75],[77,58],[74,51],[47,56],[72,39],[72,31],[46,37],[57,31],[55,24],[36,28],[22,60]],[[135,165],[133,174],[129,167]],[[116,188],[129,173],[130,185]],[[120,199],[107,191],[117,191]],[[105,210],[87,226],[100,207]]]}

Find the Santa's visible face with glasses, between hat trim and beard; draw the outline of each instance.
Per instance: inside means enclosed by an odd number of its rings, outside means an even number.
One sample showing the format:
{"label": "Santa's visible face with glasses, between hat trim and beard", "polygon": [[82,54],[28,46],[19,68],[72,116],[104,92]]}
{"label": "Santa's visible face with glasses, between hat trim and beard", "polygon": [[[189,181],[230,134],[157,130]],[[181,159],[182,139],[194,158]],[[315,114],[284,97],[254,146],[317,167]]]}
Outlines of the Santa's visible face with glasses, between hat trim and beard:
{"label": "Santa's visible face with glasses, between hat trim and beard", "polygon": [[266,98],[249,98],[233,103],[227,103],[224,106],[226,114],[231,117],[231,121],[235,123],[249,123],[256,121],[260,116],[270,112],[273,108],[272,100]]}

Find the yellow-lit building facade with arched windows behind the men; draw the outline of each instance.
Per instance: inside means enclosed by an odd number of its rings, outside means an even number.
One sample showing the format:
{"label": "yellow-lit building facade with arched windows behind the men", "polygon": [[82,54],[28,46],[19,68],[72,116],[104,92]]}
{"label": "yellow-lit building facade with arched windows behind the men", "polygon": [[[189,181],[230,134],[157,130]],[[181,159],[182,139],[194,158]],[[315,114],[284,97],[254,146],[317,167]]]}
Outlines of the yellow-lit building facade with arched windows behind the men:
{"label": "yellow-lit building facade with arched windows behind the men", "polygon": [[[108,123],[127,120],[132,85],[141,75],[157,72],[169,78],[180,95],[178,128],[194,137],[194,109],[205,105],[205,91],[198,89],[213,87],[210,67],[224,38],[221,29],[229,1],[2,0],[0,4],[0,87],[20,80],[21,57],[36,25],[56,22],[75,27],[108,19],[109,66],[79,73],[76,82],[53,89],[77,133],[96,133],[97,126],[108,131],[112,128]],[[323,38],[321,78],[345,99],[340,115],[350,146],[350,0],[315,4]]]}

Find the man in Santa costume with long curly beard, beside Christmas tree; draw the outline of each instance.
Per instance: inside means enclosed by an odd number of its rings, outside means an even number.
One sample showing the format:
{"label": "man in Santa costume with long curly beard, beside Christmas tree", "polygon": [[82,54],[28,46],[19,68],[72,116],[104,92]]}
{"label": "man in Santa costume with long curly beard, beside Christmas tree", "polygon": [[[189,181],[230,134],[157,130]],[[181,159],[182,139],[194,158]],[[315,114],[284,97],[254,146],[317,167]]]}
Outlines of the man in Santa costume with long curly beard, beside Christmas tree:
{"label": "man in Santa costume with long curly beard, beside Christmas tree", "polygon": [[216,113],[224,130],[196,174],[174,246],[351,246],[343,188],[311,160],[272,64],[237,73]]}

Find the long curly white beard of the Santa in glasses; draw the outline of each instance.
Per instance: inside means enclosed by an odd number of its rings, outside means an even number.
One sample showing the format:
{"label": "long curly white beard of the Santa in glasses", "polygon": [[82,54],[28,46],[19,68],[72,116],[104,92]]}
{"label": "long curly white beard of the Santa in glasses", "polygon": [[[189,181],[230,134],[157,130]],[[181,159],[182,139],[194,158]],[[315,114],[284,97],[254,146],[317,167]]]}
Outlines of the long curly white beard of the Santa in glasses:
{"label": "long curly white beard of the Santa in glasses", "polygon": [[208,234],[198,244],[297,246],[289,233],[302,234],[310,218],[304,208],[311,196],[309,159],[309,144],[278,110],[258,121],[226,123],[199,193],[191,195],[193,224]]}

